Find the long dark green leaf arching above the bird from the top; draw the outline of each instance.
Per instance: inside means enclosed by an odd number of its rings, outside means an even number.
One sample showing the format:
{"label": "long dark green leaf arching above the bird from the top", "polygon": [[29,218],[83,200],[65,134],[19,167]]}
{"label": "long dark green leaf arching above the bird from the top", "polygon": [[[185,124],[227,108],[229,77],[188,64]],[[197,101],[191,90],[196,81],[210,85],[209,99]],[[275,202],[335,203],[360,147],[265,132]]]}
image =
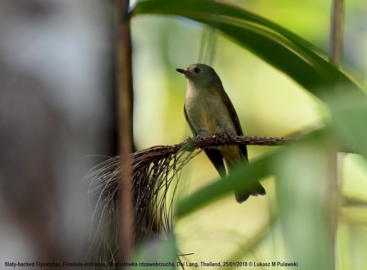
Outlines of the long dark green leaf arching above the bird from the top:
{"label": "long dark green leaf arching above the bird from the top", "polygon": [[224,33],[277,69],[315,92],[337,82],[353,84],[345,74],[321,58],[309,42],[260,16],[228,4],[208,0],[138,2],[132,16],[171,14],[206,23]]}

